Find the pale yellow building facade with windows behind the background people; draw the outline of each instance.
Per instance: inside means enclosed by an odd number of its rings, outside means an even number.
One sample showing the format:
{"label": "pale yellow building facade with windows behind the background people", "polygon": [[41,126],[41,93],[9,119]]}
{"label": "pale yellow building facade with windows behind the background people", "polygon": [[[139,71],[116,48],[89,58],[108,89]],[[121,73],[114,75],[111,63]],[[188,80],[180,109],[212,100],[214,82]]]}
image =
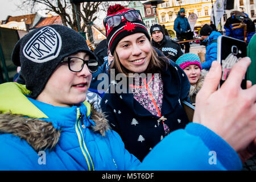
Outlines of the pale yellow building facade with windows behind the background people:
{"label": "pale yellow building facade with windows behind the background people", "polygon": [[[201,27],[207,23],[210,24],[210,16],[212,14],[212,3],[216,0],[164,0],[166,2],[158,5],[159,23],[164,24],[172,36],[175,38],[176,32],[174,31],[174,20],[177,18],[177,13],[180,8],[185,9],[185,15],[188,18],[189,14],[195,13],[198,17],[194,31],[198,34]],[[228,1],[229,5],[230,2]],[[217,25],[218,30],[223,31],[224,24],[230,13],[234,10],[246,13],[252,20],[256,19],[255,16],[255,0],[233,0],[233,9],[224,10],[224,17],[221,18],[221,23]]]}

